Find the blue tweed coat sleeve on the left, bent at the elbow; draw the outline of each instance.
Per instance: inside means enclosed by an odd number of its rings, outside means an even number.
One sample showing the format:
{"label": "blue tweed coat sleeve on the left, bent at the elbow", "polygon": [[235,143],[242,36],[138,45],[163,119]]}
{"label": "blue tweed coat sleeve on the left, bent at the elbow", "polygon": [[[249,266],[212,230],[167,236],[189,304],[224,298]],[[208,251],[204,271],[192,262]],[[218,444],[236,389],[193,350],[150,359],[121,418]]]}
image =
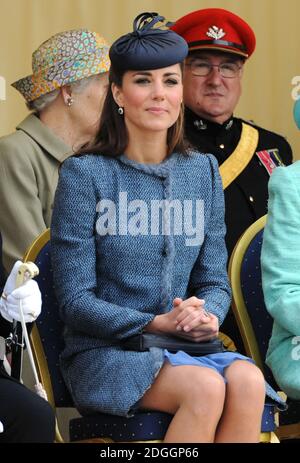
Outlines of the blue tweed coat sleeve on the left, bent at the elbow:
{"label": "blue tweed coat sleeve on the left, bent at the elbow", "polygon": [[[154,318],[97,298],[96,206],[99,201],[89,163],[92,155],[64,162],[51,224],[53,277],[61,315],[89,336],[123,339]],[[88,161],[88,162],[86,162]],[[97,175],[104,175],[97,173]]]}

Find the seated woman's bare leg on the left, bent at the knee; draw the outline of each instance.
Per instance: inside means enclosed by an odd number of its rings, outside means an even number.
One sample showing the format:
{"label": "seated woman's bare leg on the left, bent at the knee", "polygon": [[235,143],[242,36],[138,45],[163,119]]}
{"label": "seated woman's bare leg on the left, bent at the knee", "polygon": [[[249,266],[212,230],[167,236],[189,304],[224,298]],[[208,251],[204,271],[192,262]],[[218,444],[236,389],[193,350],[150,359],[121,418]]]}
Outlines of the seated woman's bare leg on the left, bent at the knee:
{"label": "seated woman's bare leg on the left, bent at the knee", "polygon": [[141,407],[174,414],[164,442],[213,442],[225,383],[211,368],[164,364]]}

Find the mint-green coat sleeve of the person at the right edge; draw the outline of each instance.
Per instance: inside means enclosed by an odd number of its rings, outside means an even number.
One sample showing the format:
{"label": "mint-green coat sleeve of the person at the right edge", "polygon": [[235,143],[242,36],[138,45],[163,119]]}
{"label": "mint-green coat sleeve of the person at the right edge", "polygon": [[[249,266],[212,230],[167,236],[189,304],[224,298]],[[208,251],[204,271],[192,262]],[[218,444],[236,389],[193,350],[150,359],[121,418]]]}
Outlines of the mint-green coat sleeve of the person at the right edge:
{"label": "mint-green coat sleeve of the person at the right edge", "polygon": [[295,336],[300,332],[299,186],[300,164],[278,167],[272,174],[261,255],[267,310]]}

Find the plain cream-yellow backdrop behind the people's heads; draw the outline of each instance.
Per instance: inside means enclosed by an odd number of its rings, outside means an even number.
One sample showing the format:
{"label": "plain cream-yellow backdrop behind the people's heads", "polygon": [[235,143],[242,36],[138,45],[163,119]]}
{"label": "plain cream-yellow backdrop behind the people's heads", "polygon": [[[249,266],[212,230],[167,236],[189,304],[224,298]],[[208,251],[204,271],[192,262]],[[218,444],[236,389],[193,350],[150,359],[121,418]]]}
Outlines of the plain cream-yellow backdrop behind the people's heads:
{"label": "plain cream-yellow backdrop behind the people's heads", "polygon": [[[0,135],[14,130],[27,114],[11,82],[31,74],[32,52],[51,35],[87,27],[112,42],[132,28],[143,11],[175,20],[191,11],[226,8],[255,31],[257,49],[246,64],[236,115],[286,136],[300,159],[300,137],[292,119],[293,77],[300,75],[298,0],[0,0]],[[299,78],[300,79],[300,78]]]}

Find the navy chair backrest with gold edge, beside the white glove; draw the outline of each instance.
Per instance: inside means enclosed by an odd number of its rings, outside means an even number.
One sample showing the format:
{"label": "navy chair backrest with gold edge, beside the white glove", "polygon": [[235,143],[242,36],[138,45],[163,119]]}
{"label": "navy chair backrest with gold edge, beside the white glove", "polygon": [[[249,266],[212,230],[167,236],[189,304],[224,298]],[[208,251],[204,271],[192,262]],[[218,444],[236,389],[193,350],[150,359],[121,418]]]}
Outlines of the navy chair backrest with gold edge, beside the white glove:
{"label": "navy chair backrest with gold edge, beside the white glove", "polygon": [[35,262],[40,271],[36,281],[42,293],[43,305],[41,315],[32,330],[31,341],[41,381],[52,406],[74,407],[59,367],[59,354],[64,346],[63,322],[59,317],[54,292],[49,229],[33,242],[24,260]]}

